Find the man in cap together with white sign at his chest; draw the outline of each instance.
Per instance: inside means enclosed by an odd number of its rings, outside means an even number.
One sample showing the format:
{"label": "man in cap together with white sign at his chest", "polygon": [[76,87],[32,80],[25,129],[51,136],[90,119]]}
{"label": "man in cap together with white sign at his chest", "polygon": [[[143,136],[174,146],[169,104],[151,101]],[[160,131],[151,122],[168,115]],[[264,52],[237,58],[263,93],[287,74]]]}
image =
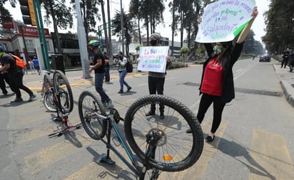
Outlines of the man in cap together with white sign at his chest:
{"label": "man in cap together with white sign at his chest", "polygon": [[[166,79],[166,68],[171,64],[168,57],[168,46],[160,46],[161,36],[158,33],[151,34],[149,38],[151,46],[140,48],[140,58],[138,58],[138,70],[148,71],[149,94],[163,95],[163,86]],[[151,110],[146,116],[155,115],[155,104],[151,105]],[[161,120],[164,119],[164,105],[159,105]]]}

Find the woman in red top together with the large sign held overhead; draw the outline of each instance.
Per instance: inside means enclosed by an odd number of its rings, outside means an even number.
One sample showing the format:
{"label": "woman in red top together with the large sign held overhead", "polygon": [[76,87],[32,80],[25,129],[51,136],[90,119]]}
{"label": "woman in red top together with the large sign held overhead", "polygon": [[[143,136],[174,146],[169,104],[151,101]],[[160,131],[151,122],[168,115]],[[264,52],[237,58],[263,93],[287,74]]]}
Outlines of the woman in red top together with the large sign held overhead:
{"label": "woman in red top together with the large sign held overhead", "polygon": [[[223,0],[209,4],[203,14],[206,16],[203,17],[201,24],[204,23],[205,26],[210,21],[215,21],[217,23],[218,21],[226,20],[226,22],[223,22],[223,26],[218,26],[217,24],[216,26],[208,26],[211,28],[204,28],[206,31],[200,30],[197,34],[196,41],[205,43],[204,45],[208,54],[208,59],[203,63],[203,73],[199,88],[200,95],[202,94],[202,96],[199,103],[197,119],[200,123],[203,121],[208,107],[213,103],[213,125],[211,127],[211,132],[209,132],[208,137],[206,137],[206,142],[213,141],[215,137],[214,134],[220,125],[223,108],[227,102],[230,102],[235,97],[232,68],[240,56],[243,43],[248,36],[253,21],[256,16],[258,16],[255,1],[248,0],[245,2],[248,4],[241,3],[238,0]],[[250,4],[250,2],[254,3]],[[225,5],[228,5],[226,7],[232,5],[230,6],[232,9],[218,11],[221,6],[224,7]],[[244,24],[240,23],[239,21],[246,17],[248,11],[250,11],[251,14],[250,18],[247,19],[247,22],[245,21]],[[235,18],[237,15],[240,16],[240,18]],[[233,27],[228,26],[228,22],[235,25]],[[238,23],[239,25],[236,25]],[[236,29],[238,29],[237,32]],[[224,30],[228,31],[224,33]],[[241,33],[238,36],[240,31]],[[233,43],[235,36],[238,36],[238,40]],[[188,129],[187,133],[191,133],[192,131],[193,129]]]}

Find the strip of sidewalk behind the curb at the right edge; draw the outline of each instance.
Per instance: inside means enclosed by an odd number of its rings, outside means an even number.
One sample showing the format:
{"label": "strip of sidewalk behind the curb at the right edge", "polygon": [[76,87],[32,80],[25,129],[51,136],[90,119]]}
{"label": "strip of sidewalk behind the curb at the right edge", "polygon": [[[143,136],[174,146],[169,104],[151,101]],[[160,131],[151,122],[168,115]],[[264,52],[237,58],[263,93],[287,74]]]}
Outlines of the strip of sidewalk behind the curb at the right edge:
{"label": "strip of sidewalk behind the curb at the right edge", "polygon": [[273,68],[277,74],[280,85],[283,88],[286,100],[294,107],[294,73],[290,73],[289,68],[280,68],[280,63],[273,61]]}

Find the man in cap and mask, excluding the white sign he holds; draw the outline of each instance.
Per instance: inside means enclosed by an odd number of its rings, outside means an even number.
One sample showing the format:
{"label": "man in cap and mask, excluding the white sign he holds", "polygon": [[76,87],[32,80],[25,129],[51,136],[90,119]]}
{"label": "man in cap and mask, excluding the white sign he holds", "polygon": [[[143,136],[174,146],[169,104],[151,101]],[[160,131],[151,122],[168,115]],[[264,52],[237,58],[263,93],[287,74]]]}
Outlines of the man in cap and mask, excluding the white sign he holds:
{"label": "man in cap and mask, excluding the white sign he holds", "polygon": [[[160,46],[161,44],[161,36],[158,33],[152,33],[149,38],[149,43],[151,46]],[[137,59],[140,61],[140,58]],[[169,56],[166,57],[166,68],[168,65],[171,65],[171,58]],[[150,95],[155,95],[156,92],[158,95],[163,95],[163,87],[164,81],[166,80],[166,72],[165,73],[158,73],[148,71],[148,89]],[[146,116],[155,115],[156,105],[151,104],[151,110],[146,113]],[[164,119],[164,105],[159,104],[159,118],[161,120]]]}

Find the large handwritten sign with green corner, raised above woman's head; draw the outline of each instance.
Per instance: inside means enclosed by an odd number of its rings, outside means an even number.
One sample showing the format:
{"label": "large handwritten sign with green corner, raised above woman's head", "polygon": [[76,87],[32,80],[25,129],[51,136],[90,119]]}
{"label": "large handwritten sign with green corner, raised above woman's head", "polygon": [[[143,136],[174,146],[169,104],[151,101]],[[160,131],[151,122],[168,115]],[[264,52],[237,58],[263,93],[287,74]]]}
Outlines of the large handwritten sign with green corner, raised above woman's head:
{"label": "large handwritten sign with green corner, raised above woman's head", "polygon": [[255,0],[220,0],[208,4],[199,24],[196,41],[232,41],[252,18]]}

